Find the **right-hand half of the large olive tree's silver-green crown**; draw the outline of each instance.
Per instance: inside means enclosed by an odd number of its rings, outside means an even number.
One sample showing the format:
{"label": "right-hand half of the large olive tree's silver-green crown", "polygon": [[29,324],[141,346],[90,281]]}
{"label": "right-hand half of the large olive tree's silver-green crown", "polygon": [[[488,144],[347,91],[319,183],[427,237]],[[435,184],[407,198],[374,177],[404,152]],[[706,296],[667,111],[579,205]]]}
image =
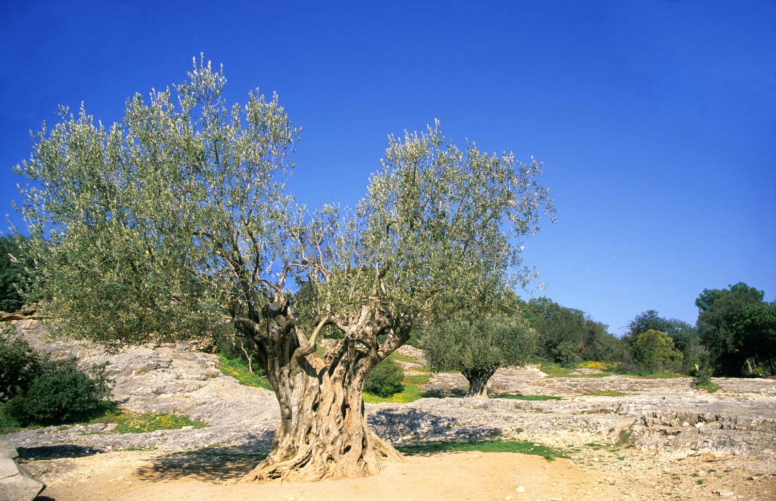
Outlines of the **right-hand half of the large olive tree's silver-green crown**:
{"label": "right-hand half of the large olive tree's silver-green crown", "polygon": [[[521,239],[554,218],[542,164],[514,154],[459,149],[438,121],[424,133],[389,137],[367,195],[345,214],[322,254],[334,311],[365,301],[408,323],[480,304],[535,278]],[[407,324],[405,324],[406,327]]]}

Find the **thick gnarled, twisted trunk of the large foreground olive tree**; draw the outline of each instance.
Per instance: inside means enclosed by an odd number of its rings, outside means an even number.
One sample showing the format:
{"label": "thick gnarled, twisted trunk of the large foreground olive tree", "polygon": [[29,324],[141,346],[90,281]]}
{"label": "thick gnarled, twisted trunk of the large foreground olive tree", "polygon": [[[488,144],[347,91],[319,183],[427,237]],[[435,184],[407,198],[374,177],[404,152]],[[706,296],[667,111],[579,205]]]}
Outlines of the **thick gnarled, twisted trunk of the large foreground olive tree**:
{"label": "thick gnarled, twisted trunk of the large foreground olive tree", "polygon": [[314,339],[310,344],[296,330],[286,306],[265,312],[268,333],[256,339],[257,351],[280,405],[280,425],[272,451],[242,481],[363,477],[399,459],[369,429],[362,399],[367,373],[390,354],[377,344],[375,330],[385,326],[362,315],[346,327],[345,339],[317,358]]}

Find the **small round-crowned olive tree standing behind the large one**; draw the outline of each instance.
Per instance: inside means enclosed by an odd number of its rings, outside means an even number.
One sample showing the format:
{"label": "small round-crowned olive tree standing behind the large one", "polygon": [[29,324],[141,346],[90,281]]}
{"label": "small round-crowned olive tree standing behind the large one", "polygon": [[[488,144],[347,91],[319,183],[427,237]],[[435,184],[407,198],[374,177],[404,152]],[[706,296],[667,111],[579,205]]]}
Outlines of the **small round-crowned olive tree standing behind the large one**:
{"label": "small round-crowned olive tree standing behind the large one", "polygon": [[487,398],[487,382],[498,368],[523,365],[535,350],[535,331],[522,316],[490,314],[429,326],[420,338],[435,371],[460,371],[466,396]]}

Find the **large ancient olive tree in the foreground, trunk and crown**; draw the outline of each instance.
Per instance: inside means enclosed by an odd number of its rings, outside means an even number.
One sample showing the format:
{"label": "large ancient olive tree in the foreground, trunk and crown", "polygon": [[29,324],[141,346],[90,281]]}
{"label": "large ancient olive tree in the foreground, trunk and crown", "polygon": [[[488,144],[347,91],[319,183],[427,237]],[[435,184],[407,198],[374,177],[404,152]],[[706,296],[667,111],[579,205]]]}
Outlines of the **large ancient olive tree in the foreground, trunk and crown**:
{"label": "large ancient olive tree in the foreground, trunk and crown", "polygon": [[[200,63],[175,92],[131,98],[122,125],[81,112],[44,127],[18,168],[33,181],[21,209],[44,270],[30,289],[74,335],[240,337],[281,416],[245,480],[375,474],[397,452],[365,421],[365,376],[417,323],[509,271],[528,278],[517,240],[552,215],[541,166],[458,150],[435,126],[390,138],[355,209],[307,212],[286,192],[298,130],[276,96],[227,108],[224,82]],[[300,322],[303,283],[313,300]],[[324,327],[340,339],[320,357]]]}

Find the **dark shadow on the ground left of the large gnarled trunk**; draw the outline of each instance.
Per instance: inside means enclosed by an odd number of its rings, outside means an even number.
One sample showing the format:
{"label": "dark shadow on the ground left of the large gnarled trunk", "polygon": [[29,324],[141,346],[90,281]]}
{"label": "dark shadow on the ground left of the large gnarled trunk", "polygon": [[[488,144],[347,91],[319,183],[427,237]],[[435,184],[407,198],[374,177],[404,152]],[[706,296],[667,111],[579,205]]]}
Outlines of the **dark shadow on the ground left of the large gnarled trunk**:
{"label": "dark shadow on the ground left of the large gnarled trunk", "polygon": [[248,475],[272,448],[274,432],[253,436],[234,447],[203,447],[180,451],[151,459],[151,465],[137,468],[136,475],[149,482],[197,479],[204,482],[228,483]]}

